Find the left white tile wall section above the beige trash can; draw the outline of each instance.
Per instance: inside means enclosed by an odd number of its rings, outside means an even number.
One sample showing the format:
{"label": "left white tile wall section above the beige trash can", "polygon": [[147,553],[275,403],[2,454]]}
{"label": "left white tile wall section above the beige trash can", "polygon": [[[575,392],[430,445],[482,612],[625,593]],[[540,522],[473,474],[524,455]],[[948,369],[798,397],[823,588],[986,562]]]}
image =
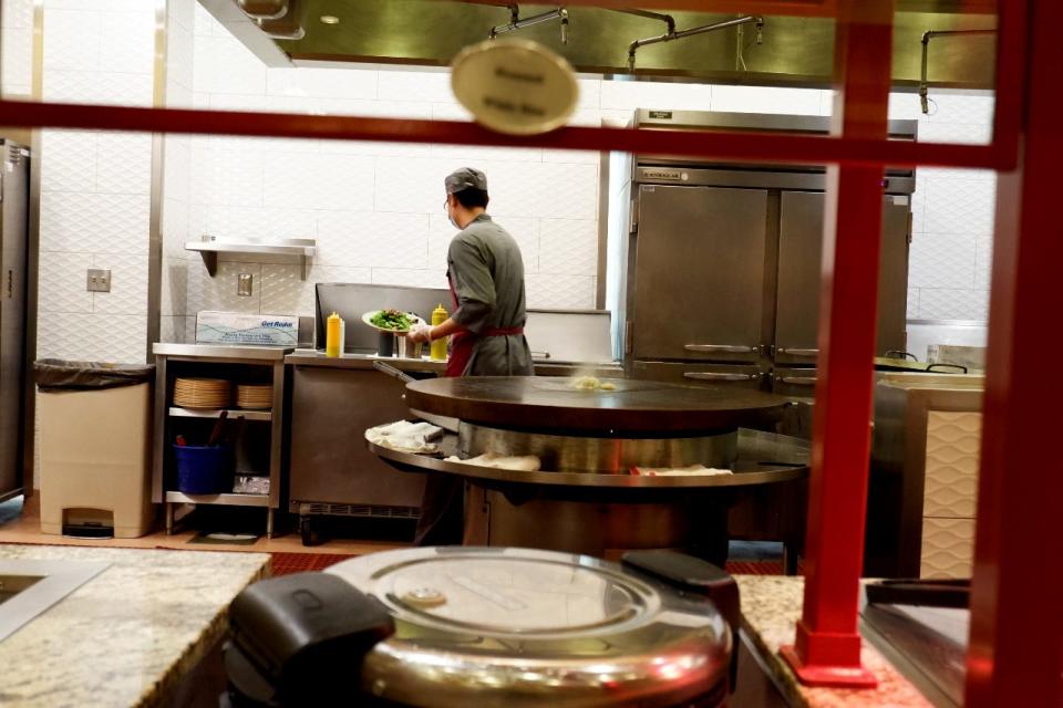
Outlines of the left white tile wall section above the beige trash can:
{"label": "left white tile wall section above the beige trash can", "polygon": [[[149,105],[154,29],[154,3],[48,0],[44,97]],[[144,361],[151,159],[144,134],[42,133],[39,356]],[[87,292],[90,268],[111,292]]]}

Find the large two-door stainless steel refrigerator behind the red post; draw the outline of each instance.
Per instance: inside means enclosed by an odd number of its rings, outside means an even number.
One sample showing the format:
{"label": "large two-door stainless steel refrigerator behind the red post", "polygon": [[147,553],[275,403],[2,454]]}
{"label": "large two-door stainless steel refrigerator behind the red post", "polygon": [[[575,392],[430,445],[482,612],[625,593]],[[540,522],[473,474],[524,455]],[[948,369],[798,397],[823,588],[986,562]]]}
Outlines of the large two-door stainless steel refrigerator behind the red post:
{"label": "large two-door stainless steel refrigerator behind the red post", "polygon": [[[825,133],[803,116],[640,111],[641,127]],[[892,122],[914,139],[916,122]],[[813,395],[826,170],[636,156],[618,332],[628,375]],[[878,353],[905,348],[911,170],[883,179]],[[623,191],[623,190],[621,190]]]}

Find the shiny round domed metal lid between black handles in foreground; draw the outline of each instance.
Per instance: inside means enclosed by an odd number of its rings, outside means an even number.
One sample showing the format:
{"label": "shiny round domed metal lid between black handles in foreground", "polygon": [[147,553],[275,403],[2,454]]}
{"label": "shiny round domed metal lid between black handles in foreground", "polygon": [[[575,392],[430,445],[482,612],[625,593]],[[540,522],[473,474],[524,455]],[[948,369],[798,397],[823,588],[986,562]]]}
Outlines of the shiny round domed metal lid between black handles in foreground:
{"label": "shiny round domed metal lid between black handles in foreground", "polygon": [[708,602],[588,556],[499,548],[373,553],[333,565],[395,635],[362,687],[417,706],[668,706],[710,695],[731,636]]}

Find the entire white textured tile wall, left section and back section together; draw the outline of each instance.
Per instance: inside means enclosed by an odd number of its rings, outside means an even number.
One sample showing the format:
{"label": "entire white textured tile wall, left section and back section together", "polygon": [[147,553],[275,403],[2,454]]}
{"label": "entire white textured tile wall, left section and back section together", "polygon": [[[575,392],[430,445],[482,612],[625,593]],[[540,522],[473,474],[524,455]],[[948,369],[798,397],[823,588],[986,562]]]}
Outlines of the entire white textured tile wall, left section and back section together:
{"label": "entire white textured tile wall, left section and back section together", "polygon": [[[4,41],[4,60],[11,51],[28,54],[31,0],[6,0],[2,7],[3,39],[18,31],[22,38]],[[140,0],[49,0],[47,97],[147,105],[153,11]],[[195,0],[171,0],[168,17],[171,105],[469,119],[453,101],[446,72],[268,70]],[[11,79],[25,73],[18,64],[4,61],[6,90],[21,85]],[[21,82],[28,85],[29,79]],[[988,139],[991,98],[949,92],[933,98],[929,117],[919,114],[910,94],[894,96],[891,113],[919,118],[928,140]],[[570,123],[622,122],[631,108],[646,106],[827,114],[829,105],[829,93],[822,91],[585,77]],[[44,140],[42,268],[60,283],[42,300],[44,348],[66,351],[83,342],[84,355],[137,358],[144,348],[142,333],[134,331],[146,298],[149,138],[47,132]],[[441,183],[466,164],[487,171],[491,210],[520,244],[529,304],[594,304],[595,153],[172,136],[166,156],[164,336],[186,337],[199,309],[309,313],[316,281],[443,287],[453,229],[442,215]],[[984,316],[991,176],[923,170],[919,185],[909,313]],[[312,236],[320,249],[307,281],[298,267],[276,258],[223,259],[218,277],[210,279],[200,259],[184,249],[186,240],[208,232]],[[111,268],[112,293],[81,290],[81,271],[90,263]],[[251,298],[235,294],[239,272],[256,278]],[[75,314],[82,316],[75,321]],[[100,336],[93,327],[109,334]],[[123,342],[130,332],[131,342]],[[62,342],[45,342],[53,334]]]}

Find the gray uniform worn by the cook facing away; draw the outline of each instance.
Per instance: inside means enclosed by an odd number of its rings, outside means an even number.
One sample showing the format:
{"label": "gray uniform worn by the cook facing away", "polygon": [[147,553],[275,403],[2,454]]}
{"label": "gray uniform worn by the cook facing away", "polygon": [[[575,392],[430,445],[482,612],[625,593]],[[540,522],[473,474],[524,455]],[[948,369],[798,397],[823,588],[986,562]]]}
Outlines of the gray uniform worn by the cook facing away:
{"label": "gray uniform worn by the cook facing away", "polygon": [[[530,376],[532,351],[524,334],[524,260],[516,240],[482,214],[454,240],[446,258],[456,293],[453,320],[476,336],[465,376]],[[464,336],[469,336],[465,334]]]}

